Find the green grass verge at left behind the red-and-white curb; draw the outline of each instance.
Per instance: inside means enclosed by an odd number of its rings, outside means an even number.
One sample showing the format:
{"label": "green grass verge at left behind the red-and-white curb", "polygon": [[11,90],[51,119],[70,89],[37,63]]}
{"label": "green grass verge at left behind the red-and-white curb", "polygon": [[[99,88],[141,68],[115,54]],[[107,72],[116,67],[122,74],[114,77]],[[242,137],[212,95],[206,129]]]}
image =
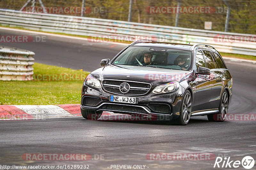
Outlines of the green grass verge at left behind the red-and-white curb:
{"label": "green grass verge at left behind the red-and-white curb", "polygon": [[[35,63],[34,74],[89,74],[82,70],[73,70],[57,66]],[[79,78],[80,79],[80,78]],[[84,80],[77,81],[0,81],[0,105],[44,105],[79,104]]]}

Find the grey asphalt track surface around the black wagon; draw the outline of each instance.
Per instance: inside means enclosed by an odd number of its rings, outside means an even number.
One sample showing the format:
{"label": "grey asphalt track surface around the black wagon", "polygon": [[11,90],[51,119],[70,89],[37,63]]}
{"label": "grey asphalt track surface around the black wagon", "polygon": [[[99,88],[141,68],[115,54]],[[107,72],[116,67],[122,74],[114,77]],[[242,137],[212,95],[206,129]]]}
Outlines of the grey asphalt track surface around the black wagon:
{"label": "grey asphalt track surface around the black wagon", "polygon": [[[1,35],[33,35],[0,29]],[[124,46],[58,37],[46,42],[1,43],[36,53],[35,62],[92,71],[103,58],[112,59]],[[229,114],[255,114],[253,63],[225,60],[233,77]],[[186,126],[152,121],[90,121],[82,117],[0,122],[0,165],[146,165],[145,169],[217,169],[213,160],[148,160],[148,153],[213,153],[256,159],[256,121],[209,122],[192,117]],[[24,153],[89,153],[87,161],[25,161]],[[104,160],[95,160],[103,154]],[[222,165],[221,162],[220,165]],[[112,168],[113,169],[113,168]],[[220,168],[224,169],[224,168]],[[231,168],[229,168],[231,169]],[[236,169],[244,169],[241,165]],[[253,167],[256,169],[256,165]]]}

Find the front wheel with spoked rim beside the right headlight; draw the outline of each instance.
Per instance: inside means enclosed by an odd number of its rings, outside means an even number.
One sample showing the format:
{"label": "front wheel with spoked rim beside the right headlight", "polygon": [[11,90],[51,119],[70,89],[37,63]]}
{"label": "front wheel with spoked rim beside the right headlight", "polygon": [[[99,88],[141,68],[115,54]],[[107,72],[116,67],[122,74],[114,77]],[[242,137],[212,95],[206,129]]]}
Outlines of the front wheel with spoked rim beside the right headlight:
{"label": "front wheel with spoked rim beside the right headlight", "polygon": [[184,92],[180,105],[180,116],[172,120],[174,124],[186,125],[189,122],[192,110],[192,97],[189,90]]}

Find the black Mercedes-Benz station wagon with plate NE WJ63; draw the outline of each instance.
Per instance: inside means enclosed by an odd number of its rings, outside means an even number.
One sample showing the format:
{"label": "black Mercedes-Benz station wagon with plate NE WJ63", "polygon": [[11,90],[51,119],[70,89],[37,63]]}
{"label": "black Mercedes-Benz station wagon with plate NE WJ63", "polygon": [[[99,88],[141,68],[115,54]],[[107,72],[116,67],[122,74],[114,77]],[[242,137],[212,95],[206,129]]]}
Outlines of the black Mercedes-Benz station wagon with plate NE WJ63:
{"label": "black Mercedes-Benz station wagon with plate NE WJ63", "polygon": [[103,111],[166,117],[180,125],[191,116],[226,119],[232,77],[210,45],[139,40],[100,64],[82,87],[85,119],[98,119]]}

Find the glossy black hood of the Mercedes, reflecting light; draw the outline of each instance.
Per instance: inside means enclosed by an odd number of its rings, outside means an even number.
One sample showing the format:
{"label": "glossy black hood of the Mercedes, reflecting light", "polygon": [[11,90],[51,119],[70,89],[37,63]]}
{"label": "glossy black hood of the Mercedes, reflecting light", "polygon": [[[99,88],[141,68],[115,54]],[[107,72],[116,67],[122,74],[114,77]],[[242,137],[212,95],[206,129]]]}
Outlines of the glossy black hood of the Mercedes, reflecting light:
{"label": "glossy black hood of the Mercedes, reflecting light", "polygon": [[107,65],[94,70],[91,74],[100,81],[105,79],[139,81],[150,83],[152,86],[171,81],[180,82],[192,75],[191,72],[184,70],[127,65]]}

